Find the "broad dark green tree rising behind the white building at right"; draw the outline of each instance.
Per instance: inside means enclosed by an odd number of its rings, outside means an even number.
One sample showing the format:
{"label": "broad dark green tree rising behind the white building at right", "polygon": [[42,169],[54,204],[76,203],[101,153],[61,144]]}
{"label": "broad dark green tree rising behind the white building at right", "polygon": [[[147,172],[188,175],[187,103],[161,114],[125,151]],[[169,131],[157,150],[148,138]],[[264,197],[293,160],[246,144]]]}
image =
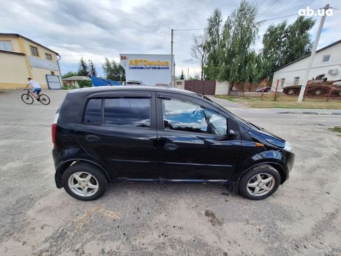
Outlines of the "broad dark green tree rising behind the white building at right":
{"label": "broad dark green tree rising behind the white building at right", "polygon": [[314,24],[315,20],[312,18],[300,16],[288,26],[287,22],[282,22],[267,28],[262,50],[264,78],[271,79],[273,72],[279,67],[310,54],[312,41],[309,31]]}

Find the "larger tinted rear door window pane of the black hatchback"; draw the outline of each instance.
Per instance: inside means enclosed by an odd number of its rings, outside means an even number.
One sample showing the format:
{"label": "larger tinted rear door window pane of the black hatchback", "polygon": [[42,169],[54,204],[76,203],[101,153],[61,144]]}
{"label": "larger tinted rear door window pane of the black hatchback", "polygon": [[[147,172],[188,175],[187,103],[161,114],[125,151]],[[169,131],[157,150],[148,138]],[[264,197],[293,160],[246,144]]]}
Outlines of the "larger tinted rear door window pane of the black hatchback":
{"label": "larger tinted rear door window pane of the black hatchback", "polygon": [[104,124],[150,127],[150,99],[128,97],[105,99]]}

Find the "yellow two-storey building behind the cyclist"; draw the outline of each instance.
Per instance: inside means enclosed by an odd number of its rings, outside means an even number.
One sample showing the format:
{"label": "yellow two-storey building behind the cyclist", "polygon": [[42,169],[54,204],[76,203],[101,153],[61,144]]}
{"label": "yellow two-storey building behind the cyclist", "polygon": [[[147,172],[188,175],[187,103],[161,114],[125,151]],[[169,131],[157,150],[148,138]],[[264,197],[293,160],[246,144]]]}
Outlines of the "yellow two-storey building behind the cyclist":
{"label": "yellow two-storey building behind the cyclist", "polygon": [[24,88],[28,77],[42,88],[60,88],[60,58],[56,51],[22,35],[0,33],[0,88]]}

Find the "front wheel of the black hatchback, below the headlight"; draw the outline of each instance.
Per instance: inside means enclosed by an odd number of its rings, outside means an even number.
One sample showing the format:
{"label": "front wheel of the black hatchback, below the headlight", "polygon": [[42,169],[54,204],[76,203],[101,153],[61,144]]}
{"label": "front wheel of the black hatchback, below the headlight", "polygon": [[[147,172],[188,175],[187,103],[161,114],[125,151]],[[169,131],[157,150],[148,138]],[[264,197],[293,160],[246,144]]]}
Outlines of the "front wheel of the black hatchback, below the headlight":
{"label": "front wheel of the black hatchback, below the headlight", "polygon": [[[258,179],[261,177],[261,179]],[[260,180],[267,180],[267,178],[272,177],[269,182],[262,183]],[[251,182],[251,183],[249,183]],[[260,182],[257,186],[257,182]],[[252,186],[251,186],[252,185]],[[244,198],[252,200],[262,200],[268,198],[270,195],[276,192],[278,186],[280,185],[280,174],[278,171],[267,164],[255,166],[251,170],[248,170],[243,177],[241,177],[239,183],[239,193],[244,196]],[[269,187],[268,187],[269,186]],[[253,189],[254,188],[254,189]],[[267,188],[267,189],[264,189]],[[257,192],[256,192],[256,189]],[[269,190],[268,190],[269,189]],[[262,194],[262,191],[264,191]],[[255,195],[255,193],[259,193]]]}

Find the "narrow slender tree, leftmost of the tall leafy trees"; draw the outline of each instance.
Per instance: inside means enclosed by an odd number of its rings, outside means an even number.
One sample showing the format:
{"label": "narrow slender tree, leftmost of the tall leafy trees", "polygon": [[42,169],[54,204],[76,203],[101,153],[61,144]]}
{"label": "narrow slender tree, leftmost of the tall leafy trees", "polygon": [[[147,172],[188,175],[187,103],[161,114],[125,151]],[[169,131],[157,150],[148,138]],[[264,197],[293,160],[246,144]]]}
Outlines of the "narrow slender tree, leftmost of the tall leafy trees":
{"label": "narrow slender tree, leftmost of the tall leafy trees", "polygon": [[220,44],[221,44],[221,10],[215,9],[212,16],[207,19],[205,47],[207,61],[204,67],[206,79],[217,79],[220,67]]}

